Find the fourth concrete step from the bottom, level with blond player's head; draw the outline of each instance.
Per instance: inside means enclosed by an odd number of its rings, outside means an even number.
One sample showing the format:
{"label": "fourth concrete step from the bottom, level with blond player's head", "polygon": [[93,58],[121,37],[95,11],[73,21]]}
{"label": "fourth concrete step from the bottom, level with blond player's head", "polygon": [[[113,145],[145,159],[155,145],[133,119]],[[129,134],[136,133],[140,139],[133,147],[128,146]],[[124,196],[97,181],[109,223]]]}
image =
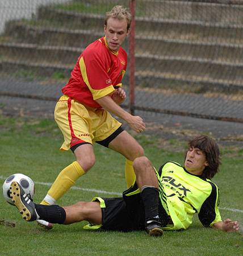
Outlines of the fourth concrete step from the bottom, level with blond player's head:
{"label": "fourth concrete step from the bottom, level with blond player's head", "polygon": [[[38,19],[54,20],[58,27],[100,32],[103,28],[103,15],[83,14],[73,11],[41,7]],[[177,20],[165,18],[136,18],[136,33],[146,36],[162,36],[167,39],[196,40],[211,43],[242,43],[243,26],[233,23],[203,22],[198,20]]]}

